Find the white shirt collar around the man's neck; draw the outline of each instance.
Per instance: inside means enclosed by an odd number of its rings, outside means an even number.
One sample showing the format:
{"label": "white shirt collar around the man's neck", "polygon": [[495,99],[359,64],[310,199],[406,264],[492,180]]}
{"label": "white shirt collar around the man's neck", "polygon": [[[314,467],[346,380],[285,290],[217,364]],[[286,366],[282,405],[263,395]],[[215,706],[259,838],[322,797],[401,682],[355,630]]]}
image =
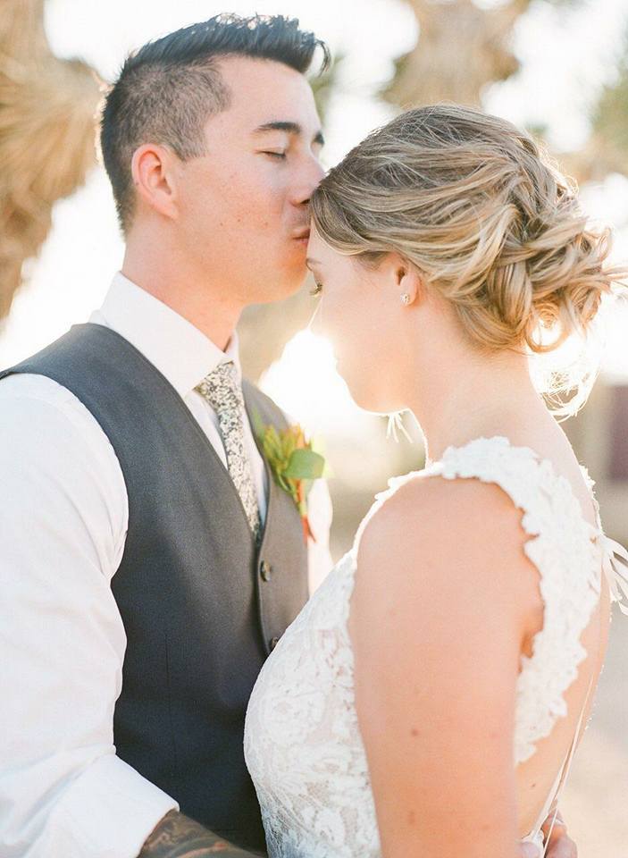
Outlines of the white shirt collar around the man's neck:
{"label": "white shirt collar around the man's neck", "polygon": [[237,332],[222,351],[191,322],[121,272],[113,277],[102,307],[89,321],[105,324],[121,334],[156,366],[181,397],[216,366],[230,360],[242,378]]}

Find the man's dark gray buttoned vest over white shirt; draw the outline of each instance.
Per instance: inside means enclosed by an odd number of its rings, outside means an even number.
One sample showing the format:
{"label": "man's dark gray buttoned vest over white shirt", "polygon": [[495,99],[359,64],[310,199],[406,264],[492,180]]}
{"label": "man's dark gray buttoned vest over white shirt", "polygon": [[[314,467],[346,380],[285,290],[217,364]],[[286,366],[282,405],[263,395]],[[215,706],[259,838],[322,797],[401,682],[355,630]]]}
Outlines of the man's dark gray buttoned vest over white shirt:
{"label": "man's dark gray buttoned vest over white shirt", "polygon": [[[182,812],[264,851],[242,738],[255,679],[307,598],[294,502],[269,472],[257,550],[238,492],[188,407],[109,328],[75,325],[0,379],[13,373],[46,375],[68,388],[120,460],[129,531],[112,581],[128,638],[113,719],[118,755]],[[286,425],[251,384],[244,394],[249,417]]]}

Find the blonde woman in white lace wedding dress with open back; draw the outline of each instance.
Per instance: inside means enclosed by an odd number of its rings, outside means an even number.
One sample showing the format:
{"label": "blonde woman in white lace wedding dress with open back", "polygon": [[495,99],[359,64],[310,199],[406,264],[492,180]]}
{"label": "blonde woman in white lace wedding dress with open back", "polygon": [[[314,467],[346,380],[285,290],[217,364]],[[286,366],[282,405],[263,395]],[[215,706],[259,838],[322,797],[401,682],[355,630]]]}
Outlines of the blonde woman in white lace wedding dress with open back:
{"label": "blonde woman in white lace wedding dress with open back", "polygon": [[339,372],[363,408],[413,412],[428,464],[377,499],[258,678],[269,854],[542,852],[624,582],[529,356],[590,325],[607,237],[532,139],[453,105],[373,132],[312,213]]}

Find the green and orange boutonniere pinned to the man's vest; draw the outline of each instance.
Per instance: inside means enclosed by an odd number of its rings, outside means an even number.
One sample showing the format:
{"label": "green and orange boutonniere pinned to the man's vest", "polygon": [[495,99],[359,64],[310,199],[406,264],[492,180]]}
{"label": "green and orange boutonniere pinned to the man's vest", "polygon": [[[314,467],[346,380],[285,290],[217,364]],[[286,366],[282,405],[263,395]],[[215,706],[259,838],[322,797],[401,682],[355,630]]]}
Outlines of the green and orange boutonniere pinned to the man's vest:
{"label": "green and orange boutonniere pinned to the man's vest", "polygon": [[307,517],[307,495],[314,480],[322,477],[325,459],[313,449],[300,425],[288,426],[280,432],[273,425],[264,425],[255,415],[255,434],[264,458],[272,470],[275,483],[295,502],[303,525],[303,537],[316,541]]}

